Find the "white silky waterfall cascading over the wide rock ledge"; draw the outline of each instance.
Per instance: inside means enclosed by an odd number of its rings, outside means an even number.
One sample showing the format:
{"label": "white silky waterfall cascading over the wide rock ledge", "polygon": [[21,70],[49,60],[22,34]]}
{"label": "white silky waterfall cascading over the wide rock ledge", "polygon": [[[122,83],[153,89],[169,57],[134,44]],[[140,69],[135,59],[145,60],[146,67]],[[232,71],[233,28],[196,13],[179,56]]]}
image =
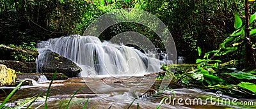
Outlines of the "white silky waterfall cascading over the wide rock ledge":
{"label": "white silky waterfall cascading over the wide rock ledge", "polygon": [[103,43],[94,36],[68,36],[49,39],[38,43],[37,69],[40,71],[47,52],[56,52],[81,67],[81,76],[110,75],[131,76],[158,72],[159,59],[125,45],[116,45],[109,41]]}

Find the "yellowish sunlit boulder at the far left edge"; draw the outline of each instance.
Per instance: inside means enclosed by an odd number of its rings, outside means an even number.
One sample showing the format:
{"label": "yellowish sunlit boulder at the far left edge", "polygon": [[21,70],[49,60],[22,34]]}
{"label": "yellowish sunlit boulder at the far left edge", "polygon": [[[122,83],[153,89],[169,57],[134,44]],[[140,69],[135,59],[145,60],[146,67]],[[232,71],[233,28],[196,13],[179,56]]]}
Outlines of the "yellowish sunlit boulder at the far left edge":
{"label": "yellowish sunlit boulder at the far left edge", "polygon": [[13,69],[7,68],[5,65],[0,64],[0,86],[15,85],[17,76]]}

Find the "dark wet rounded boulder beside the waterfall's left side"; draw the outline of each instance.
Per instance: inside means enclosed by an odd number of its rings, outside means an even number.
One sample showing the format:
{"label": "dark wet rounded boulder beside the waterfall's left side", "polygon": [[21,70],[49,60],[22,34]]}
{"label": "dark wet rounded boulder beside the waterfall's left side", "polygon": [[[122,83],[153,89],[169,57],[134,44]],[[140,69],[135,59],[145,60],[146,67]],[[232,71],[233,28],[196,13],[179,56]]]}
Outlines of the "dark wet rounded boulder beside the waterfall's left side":
{"label": "dark wet rounded boulder beside the waterfall's left side", "polygon": [[76,63],[54,52],[47,52],[41,56],[44,58],[36,61],[40,73],[53,73],[57,71],[57,73],[63,73],[68,77],[77,77],[82,71]]}

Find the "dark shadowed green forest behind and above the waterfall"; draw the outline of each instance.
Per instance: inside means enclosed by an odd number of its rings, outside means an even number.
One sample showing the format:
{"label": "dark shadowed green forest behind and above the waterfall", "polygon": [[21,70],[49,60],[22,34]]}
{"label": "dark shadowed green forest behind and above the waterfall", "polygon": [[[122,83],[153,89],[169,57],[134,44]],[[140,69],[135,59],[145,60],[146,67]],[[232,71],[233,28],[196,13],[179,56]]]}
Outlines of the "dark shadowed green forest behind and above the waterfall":
{"label": "dark shadowed green forest behind and above the waterfall", "polygon": [[[234,29],[234,12],[244,17],[244,4],[228,0],[125,0],[125,1],[1,1],[0,33],[5,45],[37,42],[69,34],[83,34],[88,25],[100,15],[118,8],[145,10],[160,18],[168,26],[177,54],[186,57],[187,63],[197,59],[197,48],[202,52],[218,49],[220,43]],[[251,3],[254,8],[254,3]],[[254,13],[254,10],[250,10]],[[154,31],[144,25],[120,23],[109,27],[101,34],[100,40],[124,31],[135,31],[147,36],[157,48],[163,43]],[[236,59],[239,55],[228,54],[225,59]]]}

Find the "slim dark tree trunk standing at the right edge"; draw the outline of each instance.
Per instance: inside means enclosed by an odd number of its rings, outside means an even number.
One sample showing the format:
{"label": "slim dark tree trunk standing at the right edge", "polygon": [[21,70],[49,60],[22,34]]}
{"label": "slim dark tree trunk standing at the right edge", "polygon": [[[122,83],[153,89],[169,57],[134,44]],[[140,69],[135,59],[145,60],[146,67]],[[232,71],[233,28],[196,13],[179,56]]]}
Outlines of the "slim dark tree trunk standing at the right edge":
{"label": "slim dark tree trunk standing at the right edge", "polygon": [[248,0],[245,0],[245,30],[244,30],[244,68],[256,68],[256,62],[253,54],[253,48],[251,44],[251,36],[250,36],[250,13]]}

